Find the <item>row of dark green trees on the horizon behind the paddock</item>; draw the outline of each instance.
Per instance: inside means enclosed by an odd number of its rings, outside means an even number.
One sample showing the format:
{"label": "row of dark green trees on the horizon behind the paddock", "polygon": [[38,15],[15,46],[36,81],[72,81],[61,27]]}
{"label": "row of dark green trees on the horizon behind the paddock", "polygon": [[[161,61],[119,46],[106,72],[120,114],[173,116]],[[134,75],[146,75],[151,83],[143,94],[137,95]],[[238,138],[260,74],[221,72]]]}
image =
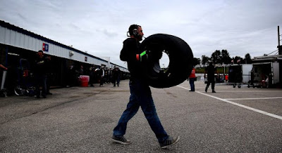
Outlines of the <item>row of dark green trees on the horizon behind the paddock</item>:
{"label": "row of dark green trees on the horizon behind the paddock", "polygon": [[202,55],[202,59],[194,58],[194,65],[202,65],[209,64],[209,61],[214,62],[214,64],[228,65],[228,64],[252,64],[252,59],[250,53],[245,55],[245,58],[241,58],[240,56],[235,56],[235,58],[231,58],[227,50],[216,50],[210,57],[207,55]]}

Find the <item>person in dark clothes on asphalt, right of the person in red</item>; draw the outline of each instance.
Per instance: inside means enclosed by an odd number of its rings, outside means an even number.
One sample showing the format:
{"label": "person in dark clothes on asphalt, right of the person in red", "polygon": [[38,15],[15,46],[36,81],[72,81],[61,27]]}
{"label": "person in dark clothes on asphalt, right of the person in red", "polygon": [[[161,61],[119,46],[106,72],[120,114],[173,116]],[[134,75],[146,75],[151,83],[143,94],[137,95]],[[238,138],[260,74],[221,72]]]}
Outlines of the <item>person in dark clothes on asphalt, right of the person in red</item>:
{"label": "person in dark clothes on asphalt, right of the person in red", "polygon": [[206,77],[207,74],[207,86],[204,89],[207,93],[207,89],[209,88],[209,85],[212,83],[212,93],[216,93],[214,91],[214,86],[215,86],[215,81],[214,81],[214,74],[217,74],[217,69],[214,67],[214,62],[209,62],[209,65],[204,69],[204,78]]}

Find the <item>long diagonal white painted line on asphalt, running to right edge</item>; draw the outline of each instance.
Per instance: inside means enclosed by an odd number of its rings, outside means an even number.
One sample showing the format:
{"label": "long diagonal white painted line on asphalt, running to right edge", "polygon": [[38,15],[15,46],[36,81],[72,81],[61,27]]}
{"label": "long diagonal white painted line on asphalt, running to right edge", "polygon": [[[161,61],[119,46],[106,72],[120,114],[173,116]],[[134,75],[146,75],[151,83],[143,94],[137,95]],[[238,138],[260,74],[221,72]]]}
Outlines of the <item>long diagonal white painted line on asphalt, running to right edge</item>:
{"label": "long diagonal white painted line on asphalt, running to right edge", "polygon": [[[179,86],[179,85],[178,85],[178,87],[184,88],[184,89],[186,89],[186,90],[190,90],[189,88],[185,88],[185,87],[183,87],[183,86]],[[258,113],[260,113],[260,114],[267,115],[267,116],[269,116],[269,117],[274,117],[274,118],[276,118],[276,119],[281,119],[281,120],[282,120],[282,117],[281,117],[281,116],[278,116],[278,115],[276,115],[276,114],[271,114],[271,113],[269,113],[269,112],[264,112],[264,111],[259,110],[259,109],[255,109],[255,108],[248,107],[248,106],[245,106],[245,105],[242,105],[242,104],[238,104],[238,103],[236,103],[236,102],[231,102],[231,101],[226,100],[226,99],[218,98],[218,97],[216,97],[216,96],[214,96],[214,95],[209,95],[209,94],[206,94],[206,93],[201,93],[201,92],[199,92],[199,91],[195,91],[195,92],[196,92],[196,93],[200,93],[200,94],[202,94],[202,95],[207,95],[207,96],[209,96],[209,97],[211,97],[211,98],[215,98],[215,99],[221,100],[221,101],[223,101],[223,102],[227,102],[227,103],[232,104],[232,105],[236,105],[236,106],[239,106],[239,107],[243,107],[243,108],[245,108],[245,109],[252,110],[252,111],[254,111],[254,112],[258,112]]]}

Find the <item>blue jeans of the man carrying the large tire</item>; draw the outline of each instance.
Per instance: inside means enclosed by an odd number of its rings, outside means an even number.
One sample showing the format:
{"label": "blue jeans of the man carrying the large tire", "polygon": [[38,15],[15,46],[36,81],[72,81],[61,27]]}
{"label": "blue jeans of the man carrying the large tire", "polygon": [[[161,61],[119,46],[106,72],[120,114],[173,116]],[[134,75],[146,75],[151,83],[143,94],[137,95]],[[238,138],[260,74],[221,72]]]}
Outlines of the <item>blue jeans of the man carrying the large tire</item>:
{"label": "blue jeans of the man carrying the large tire", "polygon": [[161,121],[157,115],[149,86],[145,81],[130,79],[129,87],[130,99],[127,108],[121,115],[121,119],[118,121],[118,125],[114,128],[114,135],[116,137],[125,135],[128,121],[137,113],[141,106],[152,131],[154,131],[159,142],[163,142],[168,138],[168,135],[166,134],[166,131],[164,131],[164,127],[161,125]]}

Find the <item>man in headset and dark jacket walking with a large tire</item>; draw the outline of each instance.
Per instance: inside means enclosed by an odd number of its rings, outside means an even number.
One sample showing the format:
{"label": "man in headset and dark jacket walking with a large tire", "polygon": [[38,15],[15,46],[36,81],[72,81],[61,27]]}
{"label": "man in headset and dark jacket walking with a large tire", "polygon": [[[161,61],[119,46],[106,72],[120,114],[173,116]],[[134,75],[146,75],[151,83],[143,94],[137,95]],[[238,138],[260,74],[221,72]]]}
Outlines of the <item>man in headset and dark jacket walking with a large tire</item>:
{"label": "man in headset and dark jacket walking with a large tire", "polygon": [[128,70],[130,72],[130,100],[127,108],[121,115],[117,126],[114,128],[111,140],[121,143],[122,145],[130,144],[130,141],[126,140],[123,135],[125,135],[128,121],[137,113],[139,107],[141,107],[147,121],[149,122],[149,126],[159,141],[159,145],[161,148],[166,148],[170,145],[176,144],[179,140],[179,136],[176,139],[169,136],[164,130],[164,127],[161,125],[149,84],[144,79],[144,73],[141,70],[141,60],[143,62],[153,57],[146,51],[140,53],[139,41],[142,40],[142,36],[144,35],[140,25],[130,25],[128,33],[130,34],[130,38],[123,41],[120,58],[128,63]]}

